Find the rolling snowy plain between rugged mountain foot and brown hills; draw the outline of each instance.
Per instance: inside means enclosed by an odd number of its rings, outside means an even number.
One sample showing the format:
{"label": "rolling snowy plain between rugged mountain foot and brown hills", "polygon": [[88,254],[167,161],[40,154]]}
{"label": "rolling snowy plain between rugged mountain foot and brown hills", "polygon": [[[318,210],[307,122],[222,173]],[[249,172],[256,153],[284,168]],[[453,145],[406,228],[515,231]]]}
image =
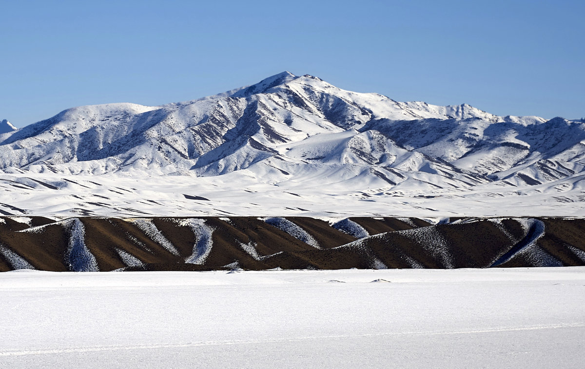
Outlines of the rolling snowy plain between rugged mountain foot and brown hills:
{"label": "rolling snowy plain between rugged mountain foot and brown hills", "polygon": [[[0,214],[77,216],[583,216],[583,175],[534,186],[470,188],[336,182],[328,173],[272,183],[247,169],[213,177],[0,174]],[[259,178],[261,180],[259,180]],[[50,188],[35,180],[57,187]],[[398,189],[397,187],[400,187]],[[191,199],[185,197],[202,197]],[[208,200],[205,200],[208,199]],[[5,211],[6,210],[6,211]]]}

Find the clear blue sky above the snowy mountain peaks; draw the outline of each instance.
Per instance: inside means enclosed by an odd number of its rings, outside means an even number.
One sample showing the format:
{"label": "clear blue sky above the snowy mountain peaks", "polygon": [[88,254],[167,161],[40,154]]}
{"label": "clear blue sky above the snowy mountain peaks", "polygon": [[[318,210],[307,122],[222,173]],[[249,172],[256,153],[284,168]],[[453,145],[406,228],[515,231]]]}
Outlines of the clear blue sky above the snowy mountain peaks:
{"label": "clear blue sky above the snowy mountain peaks", "polygon": [[289,70],[399,101],[585,117],[585,1],[3,1],[0,119]]}

